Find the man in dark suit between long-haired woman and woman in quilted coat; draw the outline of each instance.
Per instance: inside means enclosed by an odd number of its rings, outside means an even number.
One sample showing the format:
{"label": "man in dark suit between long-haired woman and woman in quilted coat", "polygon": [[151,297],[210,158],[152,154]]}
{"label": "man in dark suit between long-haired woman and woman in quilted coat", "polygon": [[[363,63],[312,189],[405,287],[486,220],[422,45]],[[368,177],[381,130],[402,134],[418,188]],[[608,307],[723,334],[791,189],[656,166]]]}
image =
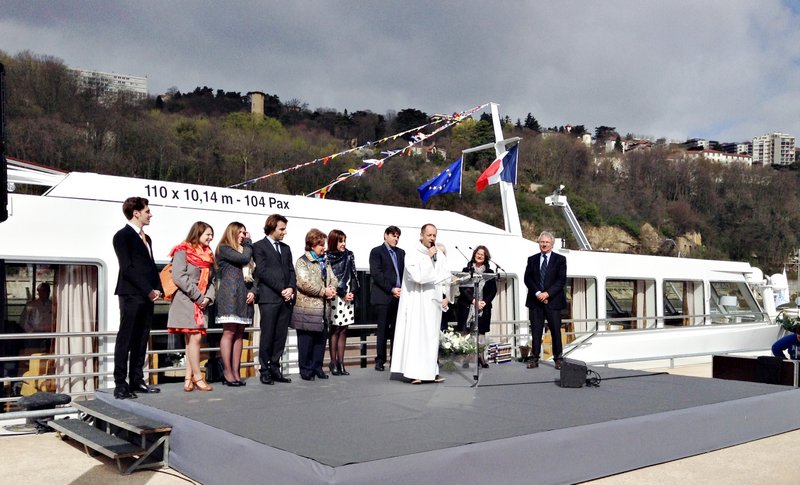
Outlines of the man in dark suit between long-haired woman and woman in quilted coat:
{"label": "man in dark suit between long-haired woman and woman in quilted coat", "polygon": [[261,383],[292,382],[281,370],[281,356],[286,347],[297,278],[292,250],[283,242],[287,219],[272,214],[264,224],[266,237],[253,244],[258,280],[258,308],[261,312],[259,357]]}

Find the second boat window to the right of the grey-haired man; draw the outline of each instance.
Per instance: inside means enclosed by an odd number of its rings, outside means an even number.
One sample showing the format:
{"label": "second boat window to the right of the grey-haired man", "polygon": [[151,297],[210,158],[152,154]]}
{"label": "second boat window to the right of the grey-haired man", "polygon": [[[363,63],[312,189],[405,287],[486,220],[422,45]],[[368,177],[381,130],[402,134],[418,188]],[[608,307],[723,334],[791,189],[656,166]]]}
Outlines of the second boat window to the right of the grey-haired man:
{"label": "second boat window to the right of the grey-haired man", "polygon": [[654,280],[606,280],[606,318],[609,330],[655,328]]}

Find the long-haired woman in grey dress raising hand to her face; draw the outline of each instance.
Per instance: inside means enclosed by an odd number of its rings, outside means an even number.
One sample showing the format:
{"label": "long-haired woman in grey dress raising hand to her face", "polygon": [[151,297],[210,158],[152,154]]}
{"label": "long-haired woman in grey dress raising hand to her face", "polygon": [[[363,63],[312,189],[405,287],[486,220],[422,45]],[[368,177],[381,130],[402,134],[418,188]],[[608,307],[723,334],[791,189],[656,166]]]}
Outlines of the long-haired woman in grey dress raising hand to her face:
{"label": "long-haired woman in grey dress raising hand to her face", "polygon": [[222,324],[219,352],[222,356],[222,385],[244,386],[239,374],[242,359],[244,329],[253,324],[253,303],[256,288],[253,284],[253,243],[250,233],[241,222],[231,222],[225,228],[217,246],[219,266],[217,323]]}

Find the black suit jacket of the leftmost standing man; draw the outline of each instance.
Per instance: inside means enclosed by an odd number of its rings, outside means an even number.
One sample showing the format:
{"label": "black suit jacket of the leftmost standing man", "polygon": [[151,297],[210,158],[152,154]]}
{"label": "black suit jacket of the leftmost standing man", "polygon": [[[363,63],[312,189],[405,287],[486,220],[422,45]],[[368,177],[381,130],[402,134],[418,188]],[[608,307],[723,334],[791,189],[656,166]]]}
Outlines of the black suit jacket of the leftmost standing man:
{"label": "black suit jacket of the leftmost standing man", "polygon": [[[153,240],[146,234],[145,237],[147,244],[152,248]],[[115,295],[136,295],[147,298],[152,290],[164,292],[153,255],[131,226],[126,224],[117,231],[113,243],[119,261]]]}

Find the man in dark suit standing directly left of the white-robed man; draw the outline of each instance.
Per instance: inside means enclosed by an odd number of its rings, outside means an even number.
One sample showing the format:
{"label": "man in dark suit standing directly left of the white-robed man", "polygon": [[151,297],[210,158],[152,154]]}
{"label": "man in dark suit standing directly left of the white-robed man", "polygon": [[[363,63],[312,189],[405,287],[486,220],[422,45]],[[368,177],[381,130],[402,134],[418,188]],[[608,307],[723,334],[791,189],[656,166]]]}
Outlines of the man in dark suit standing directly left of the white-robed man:
{"label": "man in dark suit standing directly left of the white-robed man", "polygon": [[369,253],[369,274],[372,278],[369,303],[378,323],[375,370],[383,371],[386,364],[386,341],[394,342],[394,324],[400,301],[400,283],[405,268],[406,253],[397,247],[400,228],[389,226],[383,231],[383,244]]}

